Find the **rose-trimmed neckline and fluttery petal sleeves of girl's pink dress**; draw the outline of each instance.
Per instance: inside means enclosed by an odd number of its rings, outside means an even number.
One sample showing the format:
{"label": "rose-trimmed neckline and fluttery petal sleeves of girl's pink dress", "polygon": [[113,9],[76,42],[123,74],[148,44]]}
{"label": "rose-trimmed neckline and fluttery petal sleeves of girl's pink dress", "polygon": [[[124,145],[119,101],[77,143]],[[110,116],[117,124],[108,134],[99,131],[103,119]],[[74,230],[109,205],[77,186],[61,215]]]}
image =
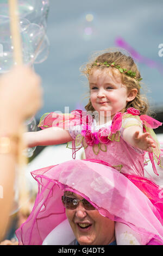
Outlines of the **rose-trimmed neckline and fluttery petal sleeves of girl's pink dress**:
{"label": "rose-trimmed neckline and fluttery petal sleeves of girl's pink dress", "polygon": [[[128,118],[134,118],[133,120]],[[137,119],[135,121],[135,119]],[[58,126],[64,130],[70,130],[71,127],[82,125],[82,132],[78,135],[75,141],[72,142],[73,155],[75,157],[76,151],[80,148],[92,146],[93,152],[97,155],[99,150],[106,152],[106,145],[112,141],[120,141],[120,129],[127,128],[133,125],[143,125],[143,132],[149,132],[151,138],[155,142],[156,148],[152,148],[152,153],[149,154],[149,159],[152,162],[153,170],[158,175],[155,168],[154,160],[161,166],[160,161],[160,144],[156,138],[153,129],[156,129],[162,123],[149,117],[148,115],[140,115],[140,111],[133,107],[127,109],[126,113],[118,112],[112,119],[111,126],[103,127],[99,131],[91,131],[92,117],[86,111],[76,109],[71,114],[58,114],[55,112],[46,113],[40,120],[39,127],[46,129],[48,127]],[[68,147],[68,145],[67,145]],[[78,147],[78,148],[76,148]],[[69,148],[69,147],[68,147]]]}

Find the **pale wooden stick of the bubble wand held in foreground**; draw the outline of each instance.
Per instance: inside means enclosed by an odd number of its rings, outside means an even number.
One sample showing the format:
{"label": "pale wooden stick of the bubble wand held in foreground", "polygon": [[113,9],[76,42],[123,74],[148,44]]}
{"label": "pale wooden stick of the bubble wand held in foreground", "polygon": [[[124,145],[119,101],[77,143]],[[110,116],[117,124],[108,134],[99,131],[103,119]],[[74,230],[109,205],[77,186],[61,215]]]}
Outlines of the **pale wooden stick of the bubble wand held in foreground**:
{"label": "pale wooden stick of the bubble wand held in foreground", "polygon": [[[18,3],[17,0],[9,0],[9,15],[10,15],[10,31],[12,44],[14,46],[14,62],[17,65],[23,64],[22,58],[22,43],[20,34],[20,20],[18,16]],[[28,211],[28,190],[26,187],[25,168],[27,166],[27,157],[22,154],[25,146],[22,140],[22,132],[25,127],[20,129],[20,140],[18,143],[18,187],[19,187],[19,199],[18,206],[23,214]]]}

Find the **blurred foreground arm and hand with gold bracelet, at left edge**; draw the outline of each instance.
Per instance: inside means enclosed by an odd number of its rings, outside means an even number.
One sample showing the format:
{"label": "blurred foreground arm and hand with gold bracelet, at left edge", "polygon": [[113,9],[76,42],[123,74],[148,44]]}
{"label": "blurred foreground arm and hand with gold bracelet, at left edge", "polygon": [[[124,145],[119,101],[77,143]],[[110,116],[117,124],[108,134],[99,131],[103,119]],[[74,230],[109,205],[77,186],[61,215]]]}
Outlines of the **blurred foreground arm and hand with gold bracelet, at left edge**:
{"label": "blurred foreground arm and hand with gold bracelet, at left edge", "polygon": [[[0,241],[7,228],[14,198],[18,135],[23,121],[41,107],[40,78],[31,69],[20,66],[0,77]],[[4,153],[2,138],[9,138],[11,150]],[[2,151],[1,151],[2,150]]]}

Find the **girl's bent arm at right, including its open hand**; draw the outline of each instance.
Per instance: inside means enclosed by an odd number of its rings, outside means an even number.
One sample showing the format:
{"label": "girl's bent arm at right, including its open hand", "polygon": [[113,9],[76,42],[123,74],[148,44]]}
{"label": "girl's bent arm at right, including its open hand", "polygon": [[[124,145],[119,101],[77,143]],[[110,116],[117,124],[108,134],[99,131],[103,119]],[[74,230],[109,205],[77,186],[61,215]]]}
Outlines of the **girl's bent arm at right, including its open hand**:
{"label": "girl's bent arm at right, including its open hand", "polygon": [[123,139],[135,148],[146,150],[152,153],[155,143],[148,132],[143,133],[140,126],[130,126],[124,129]]}

